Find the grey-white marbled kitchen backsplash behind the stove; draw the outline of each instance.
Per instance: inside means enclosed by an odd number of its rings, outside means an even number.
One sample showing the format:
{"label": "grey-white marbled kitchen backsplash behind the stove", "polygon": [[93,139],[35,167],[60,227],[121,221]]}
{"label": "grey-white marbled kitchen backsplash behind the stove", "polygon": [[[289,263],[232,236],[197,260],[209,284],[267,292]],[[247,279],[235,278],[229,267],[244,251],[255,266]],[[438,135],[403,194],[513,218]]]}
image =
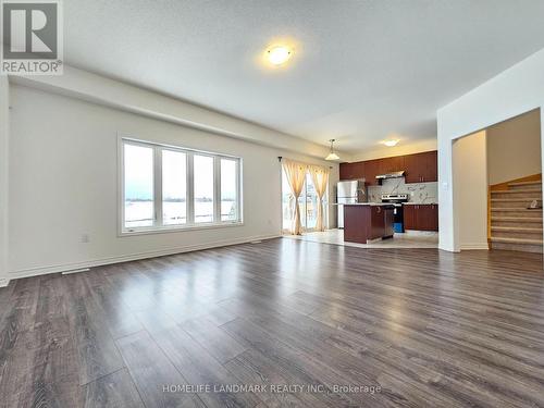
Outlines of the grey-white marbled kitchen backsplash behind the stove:
{"label": "grey-white marbled kitchen backsplash behind the stove", "polygon": [[408,202],[433,203],[438,202],[438,183],[406,184],[404,177],[386,178],[381,186],[369,186],[370,202],[381,202],[382,194],[407,194]]}

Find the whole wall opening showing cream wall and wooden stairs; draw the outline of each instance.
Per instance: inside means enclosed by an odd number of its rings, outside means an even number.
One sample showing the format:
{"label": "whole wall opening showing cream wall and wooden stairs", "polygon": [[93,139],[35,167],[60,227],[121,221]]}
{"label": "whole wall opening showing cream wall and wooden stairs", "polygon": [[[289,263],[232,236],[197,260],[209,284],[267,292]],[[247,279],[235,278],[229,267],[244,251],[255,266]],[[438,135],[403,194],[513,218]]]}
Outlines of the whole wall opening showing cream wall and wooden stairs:
{"label": "whole wall opening showing cream wall and wooden stairs", "polygon": [[543,252],[540,109],[453,141],[459,247]]}

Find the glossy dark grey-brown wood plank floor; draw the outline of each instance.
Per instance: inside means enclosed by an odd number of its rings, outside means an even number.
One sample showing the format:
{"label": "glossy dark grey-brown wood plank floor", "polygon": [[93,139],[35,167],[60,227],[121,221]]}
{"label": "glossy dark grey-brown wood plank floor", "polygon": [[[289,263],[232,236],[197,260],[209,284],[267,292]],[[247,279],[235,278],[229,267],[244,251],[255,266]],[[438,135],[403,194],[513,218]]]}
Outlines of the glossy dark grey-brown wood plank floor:
{"label": "glossy dark grey-brown wood plank floor", "polygon": [[273,239],[17,280],[0,405],[542,407],[542,265]]}

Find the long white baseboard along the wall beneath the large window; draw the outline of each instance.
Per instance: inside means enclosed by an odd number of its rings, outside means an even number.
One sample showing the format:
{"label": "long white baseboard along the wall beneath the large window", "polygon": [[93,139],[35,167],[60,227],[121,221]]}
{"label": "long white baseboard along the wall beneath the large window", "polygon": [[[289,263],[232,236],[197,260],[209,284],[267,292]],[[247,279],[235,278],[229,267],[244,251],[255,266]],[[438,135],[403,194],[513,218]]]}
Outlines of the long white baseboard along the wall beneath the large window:
{"label": "long white baseboard along the wall beneath the large window", "polygon": [[[108,258],[101,258],[101,259],[86,260],[86,261],[82,261],[82,262],[61,263],[61,264],[55,264],[55,265],[21,269],[21,270],[16,270],[16,271],[10,271],[9,275],[10,275],[10,279],[29,277],[29,276],[45,275],[48,273],[59,273],[59,272],[81,270],[81,269],[87,269],[87,268],[94,268],[94,267],[101,267],[101,265],[112,264],[112,263],[137,261],[139,259],[163,257],[166,255],[175,255],[175,254],[193,252],[193,251],[202,250],[202,249],[227,247],[231,245],[247,244],[247,243],[251,243],[251,242],[256,242],[256,240],[272,239],[272,238],[279,238],[279,237],[281,237],[280,234],[274,234],[274,235],[248,236],[248,237],[239,238],[239,239],[215,240],[215,242],[207,243],[207,244],[196,244],[196,245],[188,245],[188,246],[184,246],[184,247],[151,250],[151,251],[145,251],[145,252],[138,252],[138,254],[123,255],[120,257],[108,257]],[[8,280],[8,282],[10,280]],[[8,283],[5,285],[8,285]],[[0,281],[0,286],[1,286],[1,281]]]}

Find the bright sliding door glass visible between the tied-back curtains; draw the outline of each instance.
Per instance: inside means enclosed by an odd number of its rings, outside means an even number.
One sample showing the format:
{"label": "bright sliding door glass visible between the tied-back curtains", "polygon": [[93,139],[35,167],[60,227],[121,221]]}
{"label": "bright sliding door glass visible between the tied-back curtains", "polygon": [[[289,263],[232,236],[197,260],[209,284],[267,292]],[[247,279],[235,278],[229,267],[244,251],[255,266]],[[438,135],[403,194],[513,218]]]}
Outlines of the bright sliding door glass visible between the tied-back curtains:
{"label": "bright sliding door glass visible between the tied-back curtains", "polygon": [[[283,230],[288,231],[293,222],[293,215],[295,212],[295,198],[290,193],[289,183],[287,182],[287,176],[282,170],[282,219],[283,219]],[[326,194],[325,194],[326,200]],[[300,197],[298,197],[298,203],[300,206],[300,223],[305,232],[311,232],[316,228],[318,221],[318,195],[316,188],[311,181],[310,173],[306,174],[305,186]],[[324,207],[324,218],[326,222],[326,205]]]}

